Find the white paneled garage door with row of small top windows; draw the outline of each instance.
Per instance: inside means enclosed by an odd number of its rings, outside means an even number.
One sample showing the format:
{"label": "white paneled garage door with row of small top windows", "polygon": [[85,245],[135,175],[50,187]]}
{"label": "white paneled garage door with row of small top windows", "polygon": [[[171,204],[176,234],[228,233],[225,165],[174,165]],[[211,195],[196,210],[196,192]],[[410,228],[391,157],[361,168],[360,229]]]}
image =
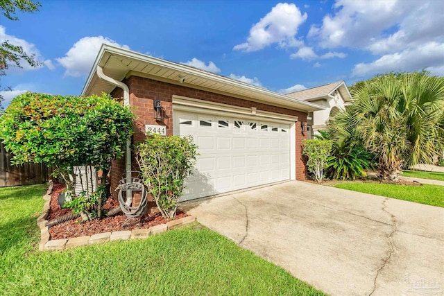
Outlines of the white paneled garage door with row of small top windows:
{"label": "white paneled garage door with row of small top windows", "polygon": [[174,121],[200,153],[181,200],[290,179],[290,123],[180,111]]}

